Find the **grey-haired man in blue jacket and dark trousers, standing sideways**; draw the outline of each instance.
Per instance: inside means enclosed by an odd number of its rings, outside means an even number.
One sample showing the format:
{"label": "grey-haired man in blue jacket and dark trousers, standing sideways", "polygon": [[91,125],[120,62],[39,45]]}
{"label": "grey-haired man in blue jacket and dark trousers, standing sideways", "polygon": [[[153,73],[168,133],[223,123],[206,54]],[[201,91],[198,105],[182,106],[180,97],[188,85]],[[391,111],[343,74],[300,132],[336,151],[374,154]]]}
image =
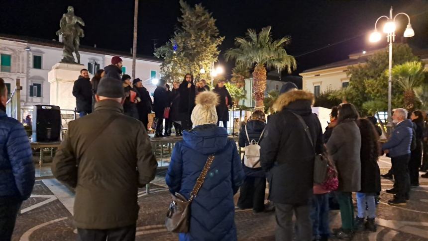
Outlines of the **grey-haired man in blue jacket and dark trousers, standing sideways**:
{"label": "grey-haired man in blue jacket and dark trousers, standing sideways", "polygon": [[396,125],[390,140],[383,144],[382,150],[389,153],[392,163],[392,173],[394,175],[394,188],[387,190],[388,193],[395,194],[394,199],[389,200],[390,205],[405,205],[409,200],[410,177],[408,163],[410,161],[412,144],[412,121],[407,119],[407,110],[395,109],[392,115]]}

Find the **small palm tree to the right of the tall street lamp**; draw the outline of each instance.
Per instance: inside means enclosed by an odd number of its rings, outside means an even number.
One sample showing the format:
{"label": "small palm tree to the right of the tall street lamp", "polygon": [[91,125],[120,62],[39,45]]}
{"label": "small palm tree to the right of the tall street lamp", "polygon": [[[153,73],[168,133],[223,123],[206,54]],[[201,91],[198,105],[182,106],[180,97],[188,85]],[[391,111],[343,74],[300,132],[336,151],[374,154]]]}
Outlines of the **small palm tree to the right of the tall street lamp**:
{"label": "small palm tree to the right of the tall street lamp", "polygon": [[415,89],[424,80],[424,67],[421,62],[412,61],[392,68],[392,78],[404,91],[404,104],[408,111],[415,109],[417,97]]}

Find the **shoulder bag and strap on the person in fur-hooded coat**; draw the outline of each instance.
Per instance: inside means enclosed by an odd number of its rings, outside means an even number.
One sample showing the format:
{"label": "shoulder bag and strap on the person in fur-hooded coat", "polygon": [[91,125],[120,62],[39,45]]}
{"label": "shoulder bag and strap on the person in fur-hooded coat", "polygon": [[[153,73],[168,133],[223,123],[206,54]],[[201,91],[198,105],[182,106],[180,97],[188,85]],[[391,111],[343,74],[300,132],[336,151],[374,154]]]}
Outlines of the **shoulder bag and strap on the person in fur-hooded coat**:
{"label": "shoulder bag and strap on the person in fur-hooded coat", "polygon": [[[291,112],[291,113],[293,113],[293,112]],[[312,147],[315,149],[315,145],[314,145],[314,142],[312,141],[312,137],[311,137],[311,133],[309,132],[308,125],[306,125],[305,121],[303,120],[303,118],[300,115],[298,115],[296,113],[293,113],[293,115],[295,115],[299,119],[300,123],[302,124],[303,128],[305,129],[306,136],[308,137],[309,141],[311,142]],[[329,166],[328,158],[325,158],[324,155],[319,155],[319,154],[315,155],[314,183],[322,185],[322,183],[324,183],[326,181],[328,166]]]}

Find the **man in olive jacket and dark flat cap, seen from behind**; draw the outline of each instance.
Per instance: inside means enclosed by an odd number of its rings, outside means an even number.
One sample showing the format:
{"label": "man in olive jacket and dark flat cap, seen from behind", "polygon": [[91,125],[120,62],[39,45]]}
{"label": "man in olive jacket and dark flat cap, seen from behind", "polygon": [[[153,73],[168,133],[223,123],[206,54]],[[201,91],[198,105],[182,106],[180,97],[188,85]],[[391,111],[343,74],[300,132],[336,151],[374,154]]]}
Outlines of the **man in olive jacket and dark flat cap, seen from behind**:
{"label": "man in olive jacket and dark flat cap, seen from behind", "polygon": [[82,241],[135,240],[138,187],[155,176],[145,127],[123,114],[121,84],[100,81],[94,113],[69,123],[52,164],[55,177],[76,188],[74,224]]}

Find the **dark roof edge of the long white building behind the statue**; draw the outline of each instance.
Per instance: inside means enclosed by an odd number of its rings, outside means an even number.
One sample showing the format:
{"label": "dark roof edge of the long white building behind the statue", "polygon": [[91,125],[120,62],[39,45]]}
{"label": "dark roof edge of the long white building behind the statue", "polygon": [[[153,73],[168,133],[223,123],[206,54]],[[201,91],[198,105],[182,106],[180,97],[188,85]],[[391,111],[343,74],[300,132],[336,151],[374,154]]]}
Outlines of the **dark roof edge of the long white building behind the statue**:
{"label": "dark roof edge of the long white building behind the statue", "polygon": [[[20,42],[20,43],[27,43],[27,44],[35,44],[35,45],[41,45],[41,46],[47,46],[47,47],[53,47],[53,48],[62,48],[62,43],[58,42],[58,41],[52,41],[52,40],[44,40],[46,42],[43,41],[37,41],[37,40],[33,40],[31,38],[28,39],[23,39],[23,38],[19,38],[19,36],[15,36],[15,35],[1,35],[0,34],[0,39],[2,40],[8,40],[8,41],[15,41],[15,42]],[[120,52],[120,51],[114,51],[114,50],[108,50],[108,49],[101,49],[101,48],[95,48],[95,47],[90,47],[90,46],[84,46],[81,45],[79,48],[80,51],[82,52],[88,52],[88,53],[94,53],[94,54],[101,54],[101,55],[110,55],[110,56],[120,56],[120,57],[124,57],[124,58],[130,58],[132,59],[132,55],[125,53],[125,52]],[[159,58],[156,57],[152,57],[152,56],[144,56],[144,55],[137,55],[136,56],[137,60],[144,60],[144,61],[150,61],[150,62],[156,62],[156,63],[163,63],[163,61]]]}

